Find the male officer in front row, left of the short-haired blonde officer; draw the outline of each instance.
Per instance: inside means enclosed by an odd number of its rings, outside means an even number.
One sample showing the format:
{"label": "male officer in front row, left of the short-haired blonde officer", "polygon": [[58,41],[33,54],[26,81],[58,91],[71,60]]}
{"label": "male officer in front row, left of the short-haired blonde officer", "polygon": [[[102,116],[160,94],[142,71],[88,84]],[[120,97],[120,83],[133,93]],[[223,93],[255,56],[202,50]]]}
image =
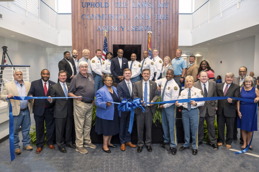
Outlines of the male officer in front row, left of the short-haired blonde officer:
{"label": "male officer in front row, left of the short-haired blonde officer", "polygon": [[[161,90],[161,101],[177,100],[179,95],[179,86],[173,79],[173,70],[168,69],[166,77],[158,79],[155,81],[159,86],[158,90]],[[174,103],[161,104],[159,106],[162,109],[162,122],[164,131],[164,142],[160,145],[165,147],[165,145],[170,143],[170,151],[173,155],[176,154],[177,146],[177,136],[176,136],[176,106]]]}

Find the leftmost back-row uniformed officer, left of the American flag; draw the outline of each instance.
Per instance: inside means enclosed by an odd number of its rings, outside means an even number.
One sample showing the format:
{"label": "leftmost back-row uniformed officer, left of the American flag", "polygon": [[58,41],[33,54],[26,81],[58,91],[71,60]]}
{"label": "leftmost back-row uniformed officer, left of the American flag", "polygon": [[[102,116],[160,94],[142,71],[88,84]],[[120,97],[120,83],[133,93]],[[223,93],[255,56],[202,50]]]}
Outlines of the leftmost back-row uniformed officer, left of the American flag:
{"label": "leftmost back-row uniformed officer, left of the American flag", "polygon": [[95,51],[95,57],[91,60],[91,68],[93,72],[93,78],[95,80],[95,95],[97,90],[99,90],[103,84],[101,82],[101,78],[104,76],[104,74],[101,72],[101,67],[103,60],[101,59],[102,53],[100,49],[97,49]]}

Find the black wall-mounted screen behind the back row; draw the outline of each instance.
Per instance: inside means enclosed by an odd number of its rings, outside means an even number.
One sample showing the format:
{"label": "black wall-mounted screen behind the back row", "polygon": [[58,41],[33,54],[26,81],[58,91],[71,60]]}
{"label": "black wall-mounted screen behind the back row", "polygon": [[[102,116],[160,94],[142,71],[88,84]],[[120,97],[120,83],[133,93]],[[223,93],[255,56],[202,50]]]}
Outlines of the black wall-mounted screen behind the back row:
{"label": "black wall-mounted screen behind the back row", "polygon": [[114,44],[112,45],[113,48],[113,57],[117,57],[117,51],[118,49],[123,50],[123,57],[128,59],[129,61],[130,56],[132,53],[135,53],[137,55],[137,61],[141,61],[141,45],[123,45],[123,44]]}

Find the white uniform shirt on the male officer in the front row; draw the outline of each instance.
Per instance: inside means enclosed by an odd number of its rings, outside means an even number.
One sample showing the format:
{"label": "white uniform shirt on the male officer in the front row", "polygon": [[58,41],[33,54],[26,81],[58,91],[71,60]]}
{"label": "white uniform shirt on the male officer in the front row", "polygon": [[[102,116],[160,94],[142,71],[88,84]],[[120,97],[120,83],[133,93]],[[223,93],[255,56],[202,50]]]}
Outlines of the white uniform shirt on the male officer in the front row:
{"label": "white uniform shirt on the male officer in the front row", "polygon": [[[166,87],[165,87],[166,81],[167,81],[166,78],[158,79],[155,81],[158,85],[161,85],[161,87],[160,87],[161,95],[165,89],[163,101],[177,100],[178,95],[179,95],[179,90],[180,90],[178,84],[176,84],[175,80],[172,79],[167,82]],[[166,103],[166,104],[164,104],[164,108],[170,107],[173,104],[174,103]]]}

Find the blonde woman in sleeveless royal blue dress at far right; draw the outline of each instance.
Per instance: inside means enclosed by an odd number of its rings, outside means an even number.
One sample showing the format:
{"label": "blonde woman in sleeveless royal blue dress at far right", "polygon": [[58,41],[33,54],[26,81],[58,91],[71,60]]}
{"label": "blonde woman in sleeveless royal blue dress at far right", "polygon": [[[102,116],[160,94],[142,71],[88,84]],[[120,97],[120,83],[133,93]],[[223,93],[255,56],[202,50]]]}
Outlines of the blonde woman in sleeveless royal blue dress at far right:
{"label": "blonde woman in sleeveless royal blue dress at far right", "polygon": [[[259,91],[253,87],[253,78],[247,76],[243,82],[245,87],[240,88],[240,97],[246,99],[254,99],[254,103],[248,103],[244,101],[237,102],[237,112],[239,118],[237,118],[237,128],[240,128],[244,144],[241,149],[244,150],[250,143],[253,135],[253,131],[257,131],[257,116],[254,116],[257,111],[256,103],[259,100]],[[252,146],[249,147],[253,150]]]}

